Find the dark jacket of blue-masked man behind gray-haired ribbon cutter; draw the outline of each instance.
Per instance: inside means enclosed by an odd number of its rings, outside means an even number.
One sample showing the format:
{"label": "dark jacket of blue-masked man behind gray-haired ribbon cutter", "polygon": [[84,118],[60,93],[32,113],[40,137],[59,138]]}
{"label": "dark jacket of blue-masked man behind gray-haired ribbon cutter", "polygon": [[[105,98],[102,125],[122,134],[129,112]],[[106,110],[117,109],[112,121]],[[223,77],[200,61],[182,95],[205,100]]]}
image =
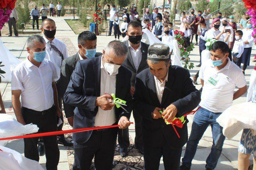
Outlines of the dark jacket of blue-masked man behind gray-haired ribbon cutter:
{"label": "dark jacket of blue-masked man behind gray-haired ribbon cutter", "polygon": [[[98,57],[101,55],[102,55],[101,52],[96,52],[95,57]],[[64,93],[66,92],[66,89],[68,87],[71,74],[75,70],[76,62],[78,62],[78,61],[80,61],[80,58],[79,58],[79,54],[77,52],[75,55],[66,58],[62,62],[62,68],[61,68],[61,72],[60,72],[60,82],[59,82],[62,87],[61,92],[60,92],[62,98],[63,98]],[[70,106],[70,105],[66,104],[65,102],[63,102],[63,106],[64,106],[66,118],[73,117],[75,107]]]}

